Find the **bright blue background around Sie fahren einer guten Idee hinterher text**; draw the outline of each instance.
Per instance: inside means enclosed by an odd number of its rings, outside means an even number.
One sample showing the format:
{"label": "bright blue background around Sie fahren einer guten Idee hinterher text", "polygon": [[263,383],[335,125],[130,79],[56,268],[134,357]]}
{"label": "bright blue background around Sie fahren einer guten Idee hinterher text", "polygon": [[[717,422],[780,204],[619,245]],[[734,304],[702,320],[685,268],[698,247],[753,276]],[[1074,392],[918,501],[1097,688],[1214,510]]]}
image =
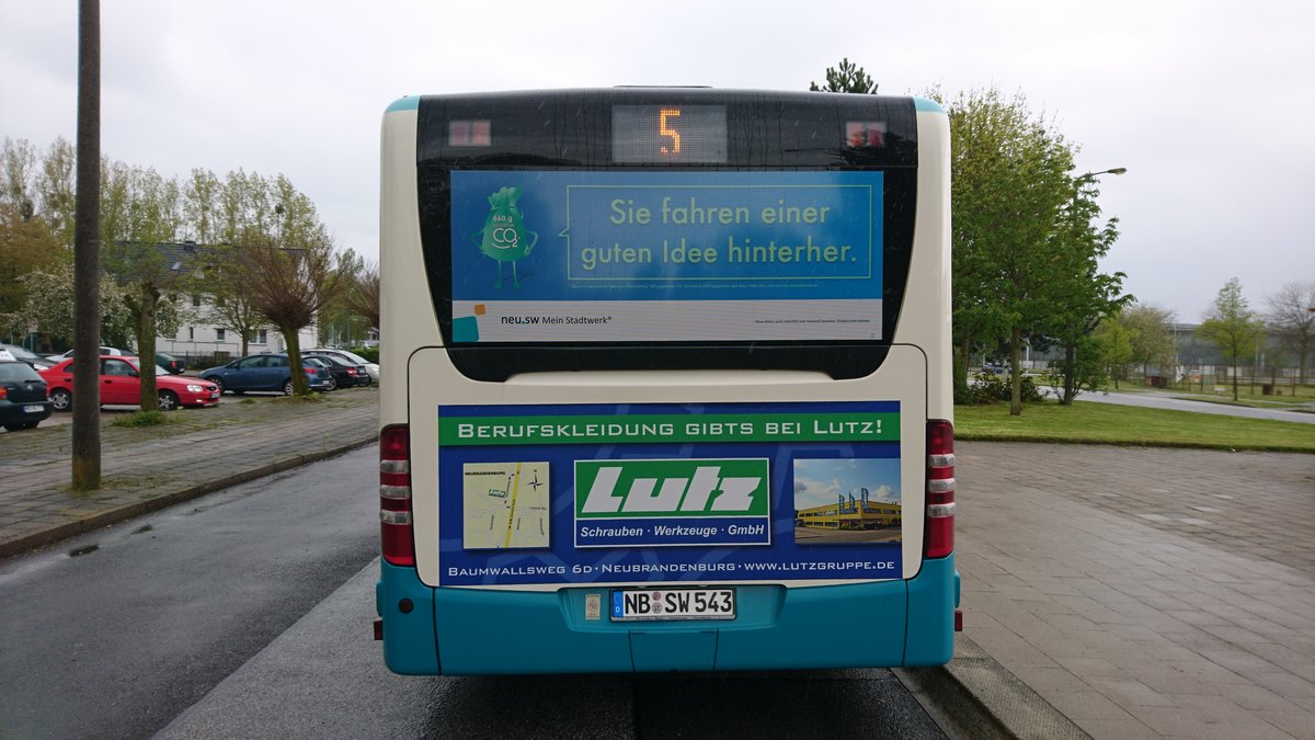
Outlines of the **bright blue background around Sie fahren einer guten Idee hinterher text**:
{"label": "bright blue background around Sie fahren einer guten Idee hinterher text", "polygon": [[[452,298],[456,300],[763,300],[881,298],[884,178],[881,172],[585,172],[452,171]],[[534,250],[515,262],[521,288],[493,287],[498,265],[477,246],[488,198],[518,187],[517,207]],[[744,205],[747,224],[661,224],[661,200],[701,207]],[[652,223],[611,224],[613,199],[646,205]],[[764,207],[830,207],[826,224],[763,224]],[[568,209],[569,204],[569,209]],[[855,261],[730,262],[727,240],[743,245],[852,246]],[[661,244],[714,248],[714,263],[664,263]],[[525,238],[529,238],[526,234]],[[581,269],[585,246],[647,245],[652,263]],[[569,248],[569,251],[568,251]],[[510,270],[506,270],[510,274]],[[573,278],[573,279],[572,279]]]}

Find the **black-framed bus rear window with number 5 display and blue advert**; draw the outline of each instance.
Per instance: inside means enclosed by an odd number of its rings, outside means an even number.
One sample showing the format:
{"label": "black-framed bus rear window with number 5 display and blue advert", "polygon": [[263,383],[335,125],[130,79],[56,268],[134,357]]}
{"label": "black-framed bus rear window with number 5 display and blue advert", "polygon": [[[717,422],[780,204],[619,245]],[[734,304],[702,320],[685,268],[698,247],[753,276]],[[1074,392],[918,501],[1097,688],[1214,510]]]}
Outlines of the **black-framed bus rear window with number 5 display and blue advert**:
{"label": "black-framed bus rear window with number 5 display and blue advert", "polygon": [[[488,138],[452,144],[471,121]],[[418,129],[425,267],[467,377],[861,377],[890,344],[913,249],[911,100],[425,97]]]}

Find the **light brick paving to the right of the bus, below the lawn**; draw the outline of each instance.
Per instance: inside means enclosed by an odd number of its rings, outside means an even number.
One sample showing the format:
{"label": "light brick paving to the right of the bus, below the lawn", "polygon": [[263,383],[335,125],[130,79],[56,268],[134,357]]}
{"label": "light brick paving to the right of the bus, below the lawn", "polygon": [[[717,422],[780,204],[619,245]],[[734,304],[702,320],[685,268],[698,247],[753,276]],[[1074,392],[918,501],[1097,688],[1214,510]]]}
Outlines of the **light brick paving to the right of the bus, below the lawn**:
{"label": "light brick paving to the right of the bus, below the lawn", "polygon": [[957,452],[992,658],[1094,737],[1315,737],[1315,456]]}

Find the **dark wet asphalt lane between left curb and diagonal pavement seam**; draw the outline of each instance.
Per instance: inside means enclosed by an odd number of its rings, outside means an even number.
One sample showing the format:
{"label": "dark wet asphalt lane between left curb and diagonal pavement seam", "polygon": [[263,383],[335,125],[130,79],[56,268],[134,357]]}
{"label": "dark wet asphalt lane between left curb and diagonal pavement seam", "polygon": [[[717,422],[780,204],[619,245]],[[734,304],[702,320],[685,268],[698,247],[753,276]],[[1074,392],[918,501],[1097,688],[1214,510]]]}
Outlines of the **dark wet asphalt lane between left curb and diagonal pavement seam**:
{"label": "dark wet asphalt lane between left curb and diagonal pavement seam", "polygon": [[143,737],[377,553],[375,452],[0,562],[0,736]]}

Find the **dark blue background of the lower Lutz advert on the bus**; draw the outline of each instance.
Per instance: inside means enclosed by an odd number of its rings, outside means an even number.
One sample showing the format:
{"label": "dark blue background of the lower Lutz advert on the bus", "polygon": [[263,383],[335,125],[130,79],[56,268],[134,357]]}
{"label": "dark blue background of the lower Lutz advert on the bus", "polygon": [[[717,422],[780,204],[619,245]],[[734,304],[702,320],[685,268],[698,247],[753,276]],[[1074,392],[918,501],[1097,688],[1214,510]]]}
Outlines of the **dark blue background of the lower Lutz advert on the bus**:
{"label": "dark blue background of the lower Lutz advert on the bus", "polygon": [[[444,416],[519,416],[685,412],[690,420],[701,413],[805,411],[898,411],[894,402],[874,403],[773,403],[773,404],[579,404],[579,406],[450,406],[439,407]],[[771,460],[771,545],[586,548],[576,549],[575,465],[576,460],[646,458],[751,458]],[[794,460],[796,458],[898,458],[898,442],[693,442],[693,444],[615,444],[615,445],[508,445],[439,446],[439,585],[518,585],[518,583],[617,583],[617,582],[752,582],[785,579],[871,579],[902,577],[898,542],[797,545],[794,542]],[[463,463],[547,461],[550,465],[551,546],[544,549],[466,550],[463,548],[464,500]],[[692,520],[697,525],[698,520]],[[763,571],[744,570],[744,564],[844,564],[890,562],[880,573],[855,569]],[[598,566],[631,564],[736,564],[734,571],[713,573],[633,573],[605,575]],[[450,575],[448,569],[490,566],[565,566],[564,575]],[[572,573],[573,566],[593,566],[593,573]]]}

